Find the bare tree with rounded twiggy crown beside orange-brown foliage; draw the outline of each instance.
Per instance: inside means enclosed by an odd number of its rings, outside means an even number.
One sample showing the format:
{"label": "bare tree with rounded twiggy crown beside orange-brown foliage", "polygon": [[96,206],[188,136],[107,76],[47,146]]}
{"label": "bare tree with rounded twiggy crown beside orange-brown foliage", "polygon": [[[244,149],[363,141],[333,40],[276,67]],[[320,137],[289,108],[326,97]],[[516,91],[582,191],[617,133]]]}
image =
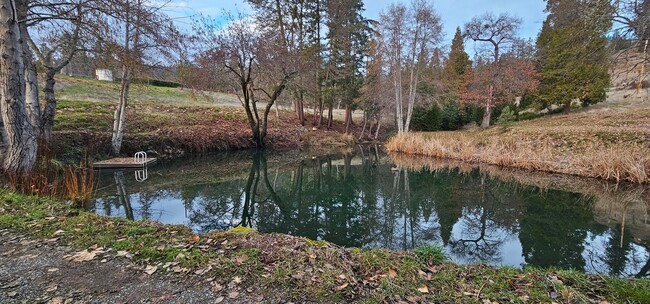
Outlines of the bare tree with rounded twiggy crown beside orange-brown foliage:
{"label": "bare tree with rounded twiggy crown beside orange-brown foliage", "polygon": [[501,14],[497,17],[492,13],[474,17],[465,24],[465,36],[467,38],[479,42],[488,42],[492,46],[492,82],[488,88],[485,114],[481,123],[482,128],[490,126],[492,108],[494,107],[494,89],[500,72],[499,52],[515,40],[520,24],[521,19],[519,18],[508,14]]}

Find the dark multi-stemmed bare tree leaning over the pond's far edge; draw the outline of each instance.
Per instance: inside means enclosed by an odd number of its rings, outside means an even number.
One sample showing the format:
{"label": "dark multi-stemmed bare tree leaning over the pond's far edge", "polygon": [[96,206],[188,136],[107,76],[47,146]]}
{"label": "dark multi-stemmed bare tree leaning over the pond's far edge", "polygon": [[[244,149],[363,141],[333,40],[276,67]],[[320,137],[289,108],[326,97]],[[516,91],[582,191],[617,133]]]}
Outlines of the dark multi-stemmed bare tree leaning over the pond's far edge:
{"label": "dark multi-stemmed bare tree leaning over the pond's far edge", "polygon": [[[230,80],[239,97],[252,139],[257,149],[265,146],[269,113],[297,73],[295,53],[287,50],[281,36],[260,31],[247,23],[249,19],[230,16],[225,29],[212,20],[198,25],[199,34],[212,54],[223,66],[222,72]],[[258,106],[263,105],[263,110]]]}

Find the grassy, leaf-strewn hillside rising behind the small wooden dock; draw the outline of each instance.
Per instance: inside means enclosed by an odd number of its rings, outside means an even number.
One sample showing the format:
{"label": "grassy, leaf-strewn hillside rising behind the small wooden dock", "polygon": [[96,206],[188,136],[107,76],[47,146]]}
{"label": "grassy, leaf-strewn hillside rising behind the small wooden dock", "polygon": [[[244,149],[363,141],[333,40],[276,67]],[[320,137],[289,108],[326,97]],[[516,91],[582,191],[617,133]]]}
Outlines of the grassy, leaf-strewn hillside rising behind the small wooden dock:
{"label": "grassy, leaf-strewn hillside rising behind the small wooden dock", "polygon": [[[55,152],[62,158],[110,154],[117,82],[57,77]],[[340,123],[335,129],[340,129]],[[310,132],[287,111],[272,113],[268,140],[273,148],[304,148],[321,143],[344,146],[352,137]],[[150,151],[158,156],[251,148],[251,132],[235,95],[134,84],[127,107],[122,153]]]}

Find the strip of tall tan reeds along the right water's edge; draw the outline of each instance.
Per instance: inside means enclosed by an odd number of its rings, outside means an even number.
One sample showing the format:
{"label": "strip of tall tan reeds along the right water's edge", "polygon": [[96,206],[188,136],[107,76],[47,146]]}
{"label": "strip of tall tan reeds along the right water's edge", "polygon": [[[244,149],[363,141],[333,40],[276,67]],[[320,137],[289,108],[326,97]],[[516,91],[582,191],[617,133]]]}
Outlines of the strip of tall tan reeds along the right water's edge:
{"label": "strip of tall tan reeds along the right water's edge", "polygon": [[386,143],[390,152],[486,163],[525,170],[555,172],[633,183],[650,182],[650,151],[635,145],[585,143],[568,149],[549,139],[514,136],[470,136],[405,133]]}

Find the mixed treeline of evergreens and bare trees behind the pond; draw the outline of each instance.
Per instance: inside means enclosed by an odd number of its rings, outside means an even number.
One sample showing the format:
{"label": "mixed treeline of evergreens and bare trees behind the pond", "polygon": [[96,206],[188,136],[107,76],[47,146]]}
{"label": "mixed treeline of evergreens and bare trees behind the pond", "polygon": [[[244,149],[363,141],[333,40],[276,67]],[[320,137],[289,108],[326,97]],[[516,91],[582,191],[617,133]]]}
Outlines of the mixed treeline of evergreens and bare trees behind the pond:
{"label": "mixed treeline of evergreens and bare trees behind the pond", "polygon": [[[614,49],[608,35],[616,29],[618,49],[638,47],[647,27],[647,1],[548,0],[547,19],[534,40],[519,36],[518,17],[485,13],[457,28],[452,41],[443,41],[447,29],[431,1],[388,5],[378,20],[364,18],[360,0],[248,2],[252,16],[231,17],[229,28],[244,23],[254,31],[230,35],[219,31],[215,20],[198,23],[200,51],[185,63],[184,82],[246,95],[241,73],[224,66],[233,58],[224,56],[229,52],[223,38],[237,37],[240,43],[231,45],[252,46],[245,58],[235,57],[251,59],[240,63],[252,68],[252,87],[258,82],[260,92],[272,91],[290,75],[274,103],[290,104],[299,123],[316,127],[329,127],[333,109],[346,110],[347,126],[355,123],[351,112],[362,111],[363,121],[356,122],[364,126],[360,137],[373,137],[387,121],[398,132],[456,129],[472,122],[487,128],[506,105],[508,115],[501,121],[601,102]],[[251,36],[266,46],[244,43],[242,38]],[[477,45],[473,58],[465,52],[468,41]],[[270,58],[269,52],[283,69],[258,62]]]}

